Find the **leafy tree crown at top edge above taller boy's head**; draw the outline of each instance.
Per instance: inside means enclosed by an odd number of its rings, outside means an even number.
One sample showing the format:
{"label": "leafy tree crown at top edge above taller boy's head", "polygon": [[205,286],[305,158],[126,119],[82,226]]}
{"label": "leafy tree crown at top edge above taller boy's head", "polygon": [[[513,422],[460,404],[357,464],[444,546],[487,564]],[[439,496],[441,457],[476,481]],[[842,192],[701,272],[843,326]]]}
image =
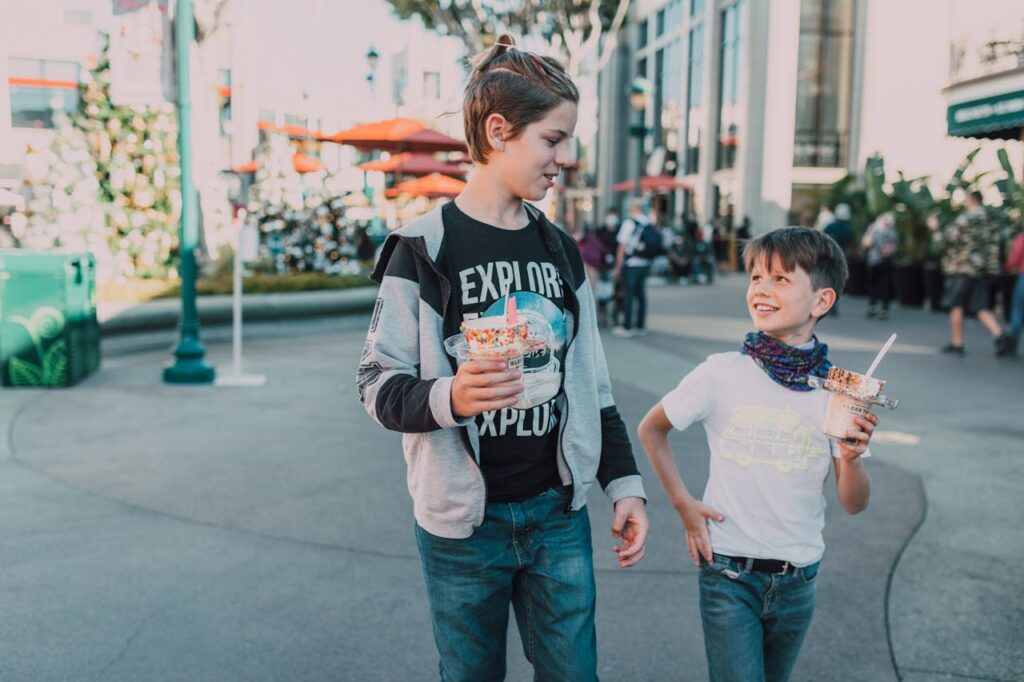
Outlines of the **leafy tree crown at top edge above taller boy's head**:
{"label": "leafy tree crown at top edge above taller boy's head", "polygon": [[[509,32],[542,41],[558,51],[573,79],[600,73],[614,49],[630,0],[388,0],[401,19],[419,16],[424,26],[462,40],[470,54]],[[608,40],[602,45],[601,37]],[[589,62],[589,59],[594,59]],[[592,63],[594,69],[586,69]]]}

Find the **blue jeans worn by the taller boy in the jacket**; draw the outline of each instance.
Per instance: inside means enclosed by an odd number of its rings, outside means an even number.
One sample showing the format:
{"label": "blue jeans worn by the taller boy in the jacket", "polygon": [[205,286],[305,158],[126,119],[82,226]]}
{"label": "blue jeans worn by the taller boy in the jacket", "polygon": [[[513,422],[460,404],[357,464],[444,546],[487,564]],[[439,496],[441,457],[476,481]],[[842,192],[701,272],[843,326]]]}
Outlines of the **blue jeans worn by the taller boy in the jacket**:
{"label": "blue jeans worn by the taller boy in the jacket", "polygon": [[510,603],[535,679],[597,679],[590,518],[568,495],[488,504],[465,540],[417,524],[441,680],[505,679]]}

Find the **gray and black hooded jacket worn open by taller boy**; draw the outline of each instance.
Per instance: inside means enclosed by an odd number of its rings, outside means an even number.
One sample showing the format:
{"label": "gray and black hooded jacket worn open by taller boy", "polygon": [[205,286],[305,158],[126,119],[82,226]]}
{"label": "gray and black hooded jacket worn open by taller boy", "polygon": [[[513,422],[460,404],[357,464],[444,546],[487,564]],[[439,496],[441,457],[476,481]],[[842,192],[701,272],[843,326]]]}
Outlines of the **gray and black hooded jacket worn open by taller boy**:
{"label": "gray and black hooded jacket worn open by taller boy", "polygon": [[[644,498],[626,425],[611,397],[590,284],[570,237],[527,205],[565,283],[564,390],[559,394],[558,471],[571,508],[595,479],[615,502]],[[452,414],[457,365],[443,340],[459,333],[459,306],[436,264],[444,240],[437,207],[393,232],[373,279],[380,284],[359,361],[359,400],[385,428],[404,434],[413,513],[428,532],[468,538],[483,522],[486,489],[473,418]]]}

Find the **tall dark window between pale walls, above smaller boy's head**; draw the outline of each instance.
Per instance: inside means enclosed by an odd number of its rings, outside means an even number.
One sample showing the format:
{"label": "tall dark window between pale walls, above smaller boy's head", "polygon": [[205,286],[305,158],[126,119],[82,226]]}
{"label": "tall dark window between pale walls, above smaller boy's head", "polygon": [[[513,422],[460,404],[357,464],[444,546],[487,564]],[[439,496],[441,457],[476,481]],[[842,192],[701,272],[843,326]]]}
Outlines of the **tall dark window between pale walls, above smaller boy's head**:
{"label": "tall dark window between pale walls, above smaller boy's head", "polygon": [[847,164],[854,0],[802,0],[795,166]]}

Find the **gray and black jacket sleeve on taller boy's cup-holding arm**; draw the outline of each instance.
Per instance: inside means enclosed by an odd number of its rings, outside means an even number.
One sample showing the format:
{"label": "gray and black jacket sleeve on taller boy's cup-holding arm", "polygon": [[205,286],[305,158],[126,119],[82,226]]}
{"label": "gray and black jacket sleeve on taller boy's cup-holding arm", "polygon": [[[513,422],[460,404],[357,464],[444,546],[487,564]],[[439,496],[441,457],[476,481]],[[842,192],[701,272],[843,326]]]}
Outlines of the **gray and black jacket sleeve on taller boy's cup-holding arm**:
{"label": "gray and black jacket sleeve on taller boy's cup-holding arm", "polygon": [[454,377],[420,377],[420,284],[416,257],[399,242],[388,252],[356,373],[359,401],[381,426],[423,433],[463,425],[452,414]]}

